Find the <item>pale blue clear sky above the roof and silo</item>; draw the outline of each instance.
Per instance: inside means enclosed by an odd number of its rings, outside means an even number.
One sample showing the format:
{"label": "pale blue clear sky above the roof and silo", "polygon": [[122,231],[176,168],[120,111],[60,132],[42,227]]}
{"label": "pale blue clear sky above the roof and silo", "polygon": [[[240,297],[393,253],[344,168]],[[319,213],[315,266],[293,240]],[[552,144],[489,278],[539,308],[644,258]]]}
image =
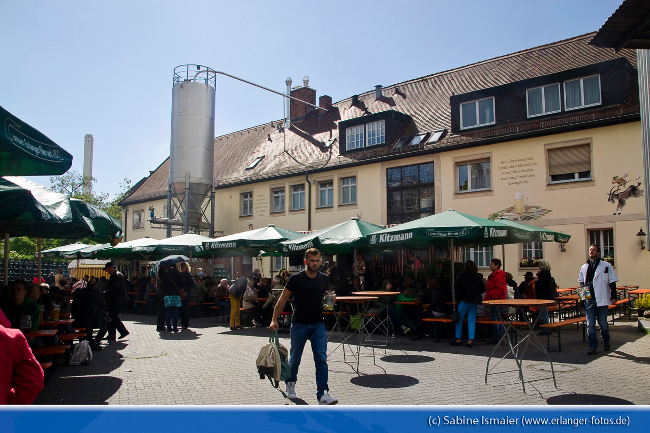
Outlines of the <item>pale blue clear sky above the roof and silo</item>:
{"label": "pale blue clear sky above the roof and silo", "polygon": [[[622,0],[0,0],[0,106],[73,155],[94,191],[170,155],[175,66],[200,64],[333,102],[597,31]],[[282,97],[222,75],[215,136],[283,117]],[[49,185],[49,177],[30,177]]]}

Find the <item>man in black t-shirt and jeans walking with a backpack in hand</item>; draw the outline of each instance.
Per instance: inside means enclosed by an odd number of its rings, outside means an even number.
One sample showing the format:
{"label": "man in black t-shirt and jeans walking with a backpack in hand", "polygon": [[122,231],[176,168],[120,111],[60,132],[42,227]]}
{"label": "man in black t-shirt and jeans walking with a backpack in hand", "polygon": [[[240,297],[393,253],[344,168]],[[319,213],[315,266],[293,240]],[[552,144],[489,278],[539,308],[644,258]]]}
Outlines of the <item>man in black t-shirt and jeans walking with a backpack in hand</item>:
{"label": "man in black t-shirt and jeans walking with a backpack in hand", "polygon": [[330,278],[318,272],[320,266],[320,251],[315,248],[305,251],[305,270],[291,275],[282,291],[278,303],[273,310],[271,325],[274,331],[278,329],[278,316],[293,295],[294,312],[291,319],[291,349],[289,350],[289,366],[291,378],[286,380],[287,398],[296,398],[296,380],[302,351],[307,340],[311,341],[311,351],[316,364],[316,398],[318,404],[337,404],[338,399],[330,397],[328,387],[327,367],[327,333],[322,317],[322,304],[325,291],[330,285]]}

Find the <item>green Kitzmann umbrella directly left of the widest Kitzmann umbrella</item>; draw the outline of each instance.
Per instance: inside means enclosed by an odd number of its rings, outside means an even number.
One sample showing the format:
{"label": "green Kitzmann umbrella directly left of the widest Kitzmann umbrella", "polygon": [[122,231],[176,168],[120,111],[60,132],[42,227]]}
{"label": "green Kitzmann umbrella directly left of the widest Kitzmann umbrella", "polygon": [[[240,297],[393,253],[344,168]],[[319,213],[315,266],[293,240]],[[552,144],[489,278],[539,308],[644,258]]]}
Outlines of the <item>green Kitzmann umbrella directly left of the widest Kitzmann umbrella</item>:
{"label": "green Kitzmann umbrella directly left of the widest Kitzmann umbrella", "polygon": [[280,242],[283,253],[300,253],[309,248],[317,248],[321,253],[346,254],[357,251],[369,251],[372,246],[366,240],[366,235],[382,226],[352,218],[350,221],[335,224],[315,232],[307,233],[298,238]]}

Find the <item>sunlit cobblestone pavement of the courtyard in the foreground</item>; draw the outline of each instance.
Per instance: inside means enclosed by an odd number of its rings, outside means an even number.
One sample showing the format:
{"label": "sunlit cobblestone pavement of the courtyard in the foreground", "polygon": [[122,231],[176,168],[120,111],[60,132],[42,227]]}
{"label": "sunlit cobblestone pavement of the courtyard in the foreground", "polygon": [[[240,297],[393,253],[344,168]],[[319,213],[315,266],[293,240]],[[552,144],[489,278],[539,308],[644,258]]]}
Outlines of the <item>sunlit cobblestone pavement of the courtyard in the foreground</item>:
{"label": "sunlit cobblestone pavement of the courtyard in the foreground", "polygon": [[[87,367],[60,366],[36,404],[317,403],[309,344],[298,373],[298,399],[290,402],[256,373],[255,359],[268,341],[265,328],[233,332],[216,317],[203,317],[192,319],[190,330],[159,333],[155,317],[122,318],[131,335],[94,352]],[[372,351],[362,349],[369,356],[360,358],[360,374],[352,363],[333,362],[343,361],[343,349],[330,341],[330,394],[341,404],[650,404],[650,336],[626,319],[610,325],[610,333],[611,351],[599,348],[596,356],[587,356],[582,332],[562,331],[562,353],[550,353],[557,389],[545,356],[528,349],[526,393],[508,358],[494,370],[503,373],[484,383],[493,346],[479,341],[469,349],[451,347],[444,338],[434,343],[400,336],[389,340],[387,351],[376,349],[374,363]],[[288,348],[288,332],[280,336]],[[551,343],[556,349],[556,339]]]}

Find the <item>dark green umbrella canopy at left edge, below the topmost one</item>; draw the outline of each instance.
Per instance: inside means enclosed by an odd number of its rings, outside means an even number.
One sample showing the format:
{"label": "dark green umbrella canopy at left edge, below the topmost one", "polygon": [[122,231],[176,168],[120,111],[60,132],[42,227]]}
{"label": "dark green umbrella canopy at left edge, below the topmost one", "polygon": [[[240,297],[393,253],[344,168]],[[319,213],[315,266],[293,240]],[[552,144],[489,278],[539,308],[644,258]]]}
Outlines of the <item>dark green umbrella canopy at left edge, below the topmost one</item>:
{"label": "dark green umbrella canopy at left edge, below the topmost one", "polygon": [[32,238],[122,236],[122,222],[83,200],[69,199],[22,177],[0,178],[0,232]]}

